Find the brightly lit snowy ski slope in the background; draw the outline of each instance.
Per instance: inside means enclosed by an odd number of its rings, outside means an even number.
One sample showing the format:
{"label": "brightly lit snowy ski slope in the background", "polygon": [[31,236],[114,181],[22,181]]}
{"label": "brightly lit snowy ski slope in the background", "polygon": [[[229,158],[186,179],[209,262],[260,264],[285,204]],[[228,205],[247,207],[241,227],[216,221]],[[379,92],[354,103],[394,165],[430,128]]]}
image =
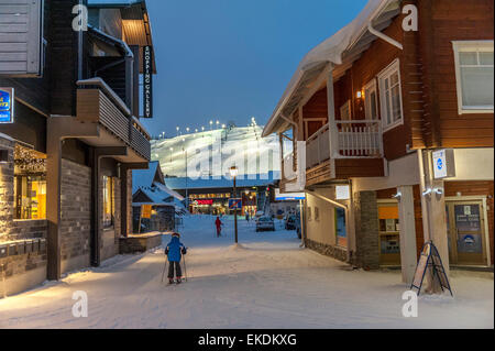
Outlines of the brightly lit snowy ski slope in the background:
{"label": "brightly lit snowy ski slope in the background", "polygon": [[[263,127],[217,129],[152,141],[152,160],[165,177],[226,177],[233,165],[244,175],[280,172],[276,135],[262,139]],[[221,154],[221,157],[220,157]]]}

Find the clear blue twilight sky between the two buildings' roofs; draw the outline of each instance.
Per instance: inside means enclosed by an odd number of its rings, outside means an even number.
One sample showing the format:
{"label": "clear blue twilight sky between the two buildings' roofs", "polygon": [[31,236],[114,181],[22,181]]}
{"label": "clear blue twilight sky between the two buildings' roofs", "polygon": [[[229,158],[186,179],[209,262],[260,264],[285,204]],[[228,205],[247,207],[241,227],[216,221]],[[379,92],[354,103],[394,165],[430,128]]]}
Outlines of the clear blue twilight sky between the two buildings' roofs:
{"label": "clear blue twilight sky between the two buildings' roofs", "polygon": [[351,22],[366,0],[147,0],[158,74],[153,135],[211,119],[272,116],[304,55]]}

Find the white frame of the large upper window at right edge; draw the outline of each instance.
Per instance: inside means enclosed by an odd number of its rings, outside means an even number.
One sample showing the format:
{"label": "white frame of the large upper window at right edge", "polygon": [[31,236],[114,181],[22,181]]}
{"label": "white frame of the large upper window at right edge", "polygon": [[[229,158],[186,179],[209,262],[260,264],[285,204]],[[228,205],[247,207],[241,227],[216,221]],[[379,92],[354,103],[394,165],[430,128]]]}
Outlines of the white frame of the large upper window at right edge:
{"label": "white frame of the large upper window at right edge", "polygon": [[[490,50],[491,48],[491,50]],[[477,107],[464,107],[462,96],[462,76],[461,76],[461,63],[460,53],[462,52],[494,52],[494,41],[452,41],[452,50],[454,54],[455,66],[455,90],[458,96],[458,111],[459,114],[472,114],[472,113],[493,113],[494,107],[492,106],[477,106]]]}

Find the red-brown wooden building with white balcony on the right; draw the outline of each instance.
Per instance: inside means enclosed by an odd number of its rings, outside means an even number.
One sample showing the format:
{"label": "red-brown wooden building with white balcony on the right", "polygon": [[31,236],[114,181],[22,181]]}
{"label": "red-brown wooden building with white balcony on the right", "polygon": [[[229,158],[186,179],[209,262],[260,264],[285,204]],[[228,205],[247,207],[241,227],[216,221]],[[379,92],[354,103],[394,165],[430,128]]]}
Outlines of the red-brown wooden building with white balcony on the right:
{"label": "red-brown wooden building with white balcony on the right", "polygon": [[264,130],[307,246],[409,283],[426,240],[493,267],[493,6],[372,0],[307,54]]}

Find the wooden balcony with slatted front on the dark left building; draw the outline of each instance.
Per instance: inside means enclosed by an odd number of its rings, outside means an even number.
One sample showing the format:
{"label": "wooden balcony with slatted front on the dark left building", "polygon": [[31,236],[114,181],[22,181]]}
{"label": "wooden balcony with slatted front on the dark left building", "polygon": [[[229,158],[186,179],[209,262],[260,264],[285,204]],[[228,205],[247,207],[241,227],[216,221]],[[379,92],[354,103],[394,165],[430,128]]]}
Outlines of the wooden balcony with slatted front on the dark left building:
{"label": "wooden balcony with slatted front on the dark left building", "polygon": [[103,128],[103,138],[87,140],[95,146],[129,146],[132,160],[151,160],[150,135],[123,101],[100,78],[77,83],[77,120],[98,123]]}

